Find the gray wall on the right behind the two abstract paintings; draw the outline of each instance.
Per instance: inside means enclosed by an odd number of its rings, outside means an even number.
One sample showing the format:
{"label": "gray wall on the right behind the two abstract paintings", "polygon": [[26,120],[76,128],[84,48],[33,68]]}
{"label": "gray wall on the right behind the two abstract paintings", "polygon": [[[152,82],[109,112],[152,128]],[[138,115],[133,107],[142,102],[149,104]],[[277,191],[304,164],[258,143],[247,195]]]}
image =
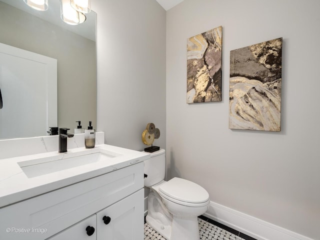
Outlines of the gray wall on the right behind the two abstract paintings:
{"label": "gray wall on the right behind the two abstract paintings", "polygon": [[[167,177],[319,239],[318,0],[184,0],[166,13]],[[186,103],[186,39],[222,25],[222,101]],[[230,50],[283,37],[281,131],[228,129]],[[178,110],[177,110],[178,109]]]}

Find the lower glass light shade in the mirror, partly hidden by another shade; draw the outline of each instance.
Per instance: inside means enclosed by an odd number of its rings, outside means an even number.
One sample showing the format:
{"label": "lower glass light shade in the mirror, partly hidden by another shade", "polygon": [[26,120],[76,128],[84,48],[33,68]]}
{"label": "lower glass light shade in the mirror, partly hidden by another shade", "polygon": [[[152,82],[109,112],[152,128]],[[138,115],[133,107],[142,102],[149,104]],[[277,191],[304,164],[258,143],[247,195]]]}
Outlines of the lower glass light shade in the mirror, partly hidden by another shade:
{"label": "lower glass light shade in the mirror, partly hidden by another shade", "polygon": [[70,4],[70,0],[60,0],[61,19],[70,25],[76,25],[85,21],[86,17]]}

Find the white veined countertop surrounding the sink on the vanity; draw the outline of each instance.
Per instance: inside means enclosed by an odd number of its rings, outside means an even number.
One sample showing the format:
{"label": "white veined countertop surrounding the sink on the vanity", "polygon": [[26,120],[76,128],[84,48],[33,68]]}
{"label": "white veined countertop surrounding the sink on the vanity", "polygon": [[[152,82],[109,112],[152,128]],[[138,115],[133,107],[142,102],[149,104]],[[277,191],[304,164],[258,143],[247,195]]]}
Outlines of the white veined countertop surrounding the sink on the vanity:
{"label": "white veined countertop surrounding the sink on the vanity", "polygon": [[[26,165],[34,166],[43,163],[43,161],[60,161],[61,163],[67,158],[97,152],[106,155],[110,153],[114,156],[53,172],[50,172],[50,169],[45,169],[49,173],[35,176],[27,176],[21,168]],[[144,161],[149,157],[150,154],[146,152],[100,144],[89,149],[85,147],[71,148],[64,153],[51,151],[1,159],[0,207]]]}

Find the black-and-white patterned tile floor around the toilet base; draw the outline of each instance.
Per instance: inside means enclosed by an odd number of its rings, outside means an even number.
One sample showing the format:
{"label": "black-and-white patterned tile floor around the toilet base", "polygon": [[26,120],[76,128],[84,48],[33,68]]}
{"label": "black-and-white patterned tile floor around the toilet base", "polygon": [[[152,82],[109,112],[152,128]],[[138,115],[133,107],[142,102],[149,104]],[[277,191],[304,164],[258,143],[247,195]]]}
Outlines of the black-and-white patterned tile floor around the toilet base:
{"label": "black-and-white patterned tile floor around the toilet base", "polygon": [[[199,235],[201,240],[255,240],[250,236],[247,236],[241,232],[224,226],[204,216],[200,216],[198,218],[198,223],[200,228]],[[149,226],[147,223],[144,223],[144,240],[166,239],[162,237],[159,233],[154,231],[153,228]]]}

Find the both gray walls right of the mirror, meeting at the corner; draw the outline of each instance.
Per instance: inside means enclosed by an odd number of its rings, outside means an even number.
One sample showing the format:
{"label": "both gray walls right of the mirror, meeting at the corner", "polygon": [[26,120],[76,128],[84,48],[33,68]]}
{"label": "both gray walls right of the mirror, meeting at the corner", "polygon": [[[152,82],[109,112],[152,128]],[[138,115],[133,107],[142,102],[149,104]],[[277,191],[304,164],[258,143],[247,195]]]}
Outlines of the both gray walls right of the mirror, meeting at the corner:
{"label": "both gray walls right of the mirror, meeting at the corner", "polygon": [[[106,143],[140,150],[153,121],[168,179],[197,182],[213,202],[317,239],[319,4],[184,0],[165,13],[153,0],[93,0],[97,129]],[[187,104],[186,39],[219,25],[222,101]],[[228,129],[229,51],[276,37],[283,37],[281,131]]]}

